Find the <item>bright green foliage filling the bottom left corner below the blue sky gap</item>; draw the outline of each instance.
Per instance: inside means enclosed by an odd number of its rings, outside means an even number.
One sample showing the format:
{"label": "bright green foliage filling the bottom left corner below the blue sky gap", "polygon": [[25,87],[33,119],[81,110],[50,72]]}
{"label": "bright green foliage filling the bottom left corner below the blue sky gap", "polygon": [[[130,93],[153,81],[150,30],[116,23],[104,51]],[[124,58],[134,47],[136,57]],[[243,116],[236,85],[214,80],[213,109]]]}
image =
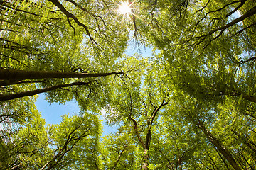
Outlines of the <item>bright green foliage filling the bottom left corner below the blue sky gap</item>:
{"label": "bright green foliage filling the bottom left corner below the blue sky gap", "polygon": [[31,111],[33,115],[26,118],[26,123],[9,134],[10,141],[7,137],[1,140],[3,168],[80,169],[87,166],[96,169],[102,132],[98,116],[91,113],[64,115],[60,125],[45,128],[41,115],[34,109]]}

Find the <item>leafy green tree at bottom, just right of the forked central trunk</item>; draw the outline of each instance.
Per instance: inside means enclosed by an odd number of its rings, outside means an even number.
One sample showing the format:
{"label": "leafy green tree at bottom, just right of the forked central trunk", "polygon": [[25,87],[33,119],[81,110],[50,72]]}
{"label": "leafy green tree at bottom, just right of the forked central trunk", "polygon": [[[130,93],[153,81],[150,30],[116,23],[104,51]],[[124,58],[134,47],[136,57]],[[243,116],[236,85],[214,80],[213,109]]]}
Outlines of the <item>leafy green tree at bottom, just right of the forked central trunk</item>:
{"label": "leafy green tree at bottom, just right of the forked central trunk", "polygon": [[202,137],[193,134],[193,129],[186,123],[175,118],[176,113],[168,113],[158,121],[156,137],[152,141],[152,164],[156,169],[193,169],[193,162],[198,158],[194,155],[202,152]]}

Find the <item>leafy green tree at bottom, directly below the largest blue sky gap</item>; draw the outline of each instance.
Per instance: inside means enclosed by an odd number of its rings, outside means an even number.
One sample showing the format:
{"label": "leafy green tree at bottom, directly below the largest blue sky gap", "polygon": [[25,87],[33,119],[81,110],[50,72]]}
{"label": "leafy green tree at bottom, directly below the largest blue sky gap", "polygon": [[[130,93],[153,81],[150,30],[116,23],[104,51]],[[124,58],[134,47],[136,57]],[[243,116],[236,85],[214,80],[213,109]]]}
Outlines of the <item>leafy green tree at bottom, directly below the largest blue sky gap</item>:
{"label": "leafy green tree at bottom, directly below the largest blue sky gap", "polygon": [[90,153],[90,147],[97,148],[100,128],[98,117],[90,113],[70,118],[64,115],[60,125],[49,127],[53,154],[41,169],[79,169],[82,164],[90,169],[100,169],[95,166],[98,162],[94,162]]}

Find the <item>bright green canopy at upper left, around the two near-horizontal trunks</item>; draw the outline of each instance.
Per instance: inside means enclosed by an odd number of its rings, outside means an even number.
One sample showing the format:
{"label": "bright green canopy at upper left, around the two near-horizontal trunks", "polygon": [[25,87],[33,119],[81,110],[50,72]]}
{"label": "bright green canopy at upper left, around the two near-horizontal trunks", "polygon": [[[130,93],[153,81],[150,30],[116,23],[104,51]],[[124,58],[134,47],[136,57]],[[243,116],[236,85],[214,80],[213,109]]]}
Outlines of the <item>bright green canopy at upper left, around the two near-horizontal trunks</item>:
{"label": "bright green canopy at upper left, around the two near-horizontal trunks", "polygon": [[[57,72],[117,71],[116,59],[122,58],[129,33],[123,26],[117,26],[115,17],[109,17],[116,16],[110,10],[114,3],[55,2],[3,1],[1,11],[6,15],[1,16],[1,67]],[[37,81],[33,87],[29,83],[23,86],[34,90],[74,81],[78,79],[47,79]],[[107,84],[105,81],[99,84]],[[85,103],[90,103],[90,94],[97,93],[99,84],[95,89],[86,86],[50,91],[48,101],[65,103],[76,98],[81,108],[86,108]],[[17,85],[17,91],[20,92],[23,86]],[[13,86],[9,88],[16,91]],[[7,94],[11,92],[7,91]],[[100,98],[100,95],[94,98]]]}

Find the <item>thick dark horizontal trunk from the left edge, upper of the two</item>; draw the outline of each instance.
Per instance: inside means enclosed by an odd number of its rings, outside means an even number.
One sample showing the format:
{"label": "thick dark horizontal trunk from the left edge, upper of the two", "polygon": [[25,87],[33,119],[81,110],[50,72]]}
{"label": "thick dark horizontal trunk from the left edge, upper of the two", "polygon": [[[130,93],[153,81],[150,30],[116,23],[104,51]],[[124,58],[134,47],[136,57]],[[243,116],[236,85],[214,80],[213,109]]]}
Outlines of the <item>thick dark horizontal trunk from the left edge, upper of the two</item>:
{"label": "thick dark horizontal trunk from the left edge, upper of the two", "polygon": [[0,86],[8,86],[16,81],[21,81],[25,79],[107,77],[117,74],[124,74],[124,72],[78,73],[0,69]]}

